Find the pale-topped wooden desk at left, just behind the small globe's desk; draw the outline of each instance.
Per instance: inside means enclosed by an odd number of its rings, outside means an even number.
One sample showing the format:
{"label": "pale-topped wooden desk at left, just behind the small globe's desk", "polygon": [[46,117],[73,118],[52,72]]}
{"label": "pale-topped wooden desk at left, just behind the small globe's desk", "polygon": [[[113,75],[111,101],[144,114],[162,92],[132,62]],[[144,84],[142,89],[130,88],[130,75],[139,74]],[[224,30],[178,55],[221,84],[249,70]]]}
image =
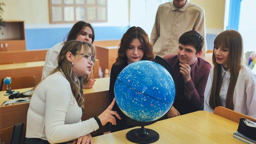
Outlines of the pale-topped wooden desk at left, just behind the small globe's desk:
{"label": "pale-topped wooden desk at left, just behind the small globe's desk", "polygon": [[43,67],[44,61],[0,65],[0,78],[35,76],[37,84],[41,81]]}

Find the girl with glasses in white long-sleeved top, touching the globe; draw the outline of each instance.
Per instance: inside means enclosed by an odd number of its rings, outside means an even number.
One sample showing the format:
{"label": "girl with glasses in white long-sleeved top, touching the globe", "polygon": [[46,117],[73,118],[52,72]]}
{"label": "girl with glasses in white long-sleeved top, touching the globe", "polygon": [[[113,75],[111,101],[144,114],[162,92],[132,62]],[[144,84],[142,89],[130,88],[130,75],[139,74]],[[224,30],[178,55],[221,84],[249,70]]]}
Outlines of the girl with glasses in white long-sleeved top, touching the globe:
{"label": "girl with glasses in white long-sleeved top, touching the globe", "polygon": [[112,100],[99,116],[81,121],[82,111],[86,110],[81,80],[90,74],[94,55],[92,44],[65,42],[58,56],[58,67],[33,88],[25,144],[92,144],[91,132],[107,122],[115,125],[115,116],[120,119],[119,114],[112,111],[115,102]]}

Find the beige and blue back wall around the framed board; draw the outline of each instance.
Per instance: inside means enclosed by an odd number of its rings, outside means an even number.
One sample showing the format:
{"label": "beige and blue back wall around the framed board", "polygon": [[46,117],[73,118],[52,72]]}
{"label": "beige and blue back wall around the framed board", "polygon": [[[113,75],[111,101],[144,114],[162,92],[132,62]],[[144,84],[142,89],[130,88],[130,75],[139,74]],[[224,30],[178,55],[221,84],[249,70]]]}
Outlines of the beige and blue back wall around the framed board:
{"label": "beige and blue back wall around the framed board", "polygon": [[[63,41],[74,23],[50,24],[49,0],[2,0],[3,19],[25,21],[26,47],[49,49]],[[129,28],[129,1],[107,0],[108,22],[91,23],[95,40],[121,39]],[[118,6],[118,7],[116,7]]]}

